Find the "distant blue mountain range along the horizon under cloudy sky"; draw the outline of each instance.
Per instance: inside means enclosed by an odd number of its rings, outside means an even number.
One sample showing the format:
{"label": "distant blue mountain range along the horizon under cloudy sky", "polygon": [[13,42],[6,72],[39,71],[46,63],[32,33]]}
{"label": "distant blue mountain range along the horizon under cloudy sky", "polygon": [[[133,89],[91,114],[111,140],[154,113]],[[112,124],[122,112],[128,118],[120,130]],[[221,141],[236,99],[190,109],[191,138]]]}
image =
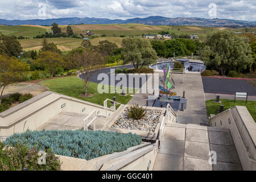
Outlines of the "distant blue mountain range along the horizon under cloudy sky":
{"label": "distant blue mountain range along the horizon under cloudy sky", "polygon": [[52,23],[57,24],[124,24],[124,23],[141,23],[149,25],[171,25],[171,26],[203,26],[203,27],[256,27],[256,22],[232,19],[205,19],[205,18],[167,18],[163,16],[149,16],[147,18],[133,19],[108,19],[108,18],[56,18],[56,19],[30,19],[30,20],[5,20],[0,19],[0,24],[9,26],[21,24],[34,24],[51,26]]}

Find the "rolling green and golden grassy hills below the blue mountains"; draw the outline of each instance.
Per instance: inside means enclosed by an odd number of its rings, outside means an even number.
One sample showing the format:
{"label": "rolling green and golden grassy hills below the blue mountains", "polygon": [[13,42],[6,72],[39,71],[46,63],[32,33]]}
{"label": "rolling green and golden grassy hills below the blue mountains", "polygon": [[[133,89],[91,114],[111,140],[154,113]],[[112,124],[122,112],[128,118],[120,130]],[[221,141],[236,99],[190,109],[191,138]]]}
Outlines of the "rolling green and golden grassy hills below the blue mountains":
{"label": "rolling green and golden grassy hills below the blue mountains", "polygon": [[[61,31],[67,30],[67,25],[60,25]],[[199,36],[197,40],[205,40],[206,35],[210,31],[218,30],[230,30],[230,31],[241,31],[245,32],[245,28],[226,28],[226,27],[195,27],[195,26],[150,26],[145,24],[78,24],[71,25],[73,32],[76,34],[85,34],[86,31],[90,30],[94,34],[101,36],[106,34],[105,38],[94,38],[90,39],[90,42],[96,46],[101,40],[109,40],[110,42],[116,43],[118,47],[121,46],[122,38],[119,36],[142,36],[142,34],[158,34],[159,31],[168,31],[175,33],[176,35],[181,34],[196,34]],[[39,50],[42,44],[42,39],[33,39],[36,35],[42,35],[45,32],[49,32],[50,26],[0,26],[0,32],[5,35],[24,36],[30,39],[19,40],[20,44],[25,51],[30,49]],[[256,31],[256,27],[249,27],[249,31]],[[74,38],[50,38],[49,42],[57,44],[61,51],[70,51],[73,48],[79,47],[82,40]]]}

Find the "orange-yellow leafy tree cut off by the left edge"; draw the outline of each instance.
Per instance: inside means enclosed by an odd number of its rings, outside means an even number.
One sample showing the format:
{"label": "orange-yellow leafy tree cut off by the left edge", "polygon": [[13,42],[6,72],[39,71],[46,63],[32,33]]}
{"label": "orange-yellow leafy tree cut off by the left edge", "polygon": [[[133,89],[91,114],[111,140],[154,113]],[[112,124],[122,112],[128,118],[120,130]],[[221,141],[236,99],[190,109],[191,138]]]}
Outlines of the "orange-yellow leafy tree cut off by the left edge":
{"label": "orange-yellow leafy tree cut off by the left edge", "polygon": [[3,90],[7,85],[22,81],[23,72],[29,71],[27,63],[19,61],[16,57],[0,55],[0,105],[2,102]]}

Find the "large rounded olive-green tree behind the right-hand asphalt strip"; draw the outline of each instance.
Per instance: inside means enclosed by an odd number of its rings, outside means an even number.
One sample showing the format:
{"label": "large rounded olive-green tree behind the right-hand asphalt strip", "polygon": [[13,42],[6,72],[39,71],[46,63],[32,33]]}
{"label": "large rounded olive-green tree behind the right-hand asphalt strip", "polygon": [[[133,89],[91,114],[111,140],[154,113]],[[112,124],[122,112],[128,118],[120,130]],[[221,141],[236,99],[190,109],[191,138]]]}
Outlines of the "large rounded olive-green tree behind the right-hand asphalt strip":
{"label": "large rounded olive-green tree behind the right-hand asphalt strip", "polygon": [[245,36],[231,31],[211,32],[200,53],[201,60],[207,67],[218,69],[221,75],[230,70],[241,72],[253,64],[248,42]]}

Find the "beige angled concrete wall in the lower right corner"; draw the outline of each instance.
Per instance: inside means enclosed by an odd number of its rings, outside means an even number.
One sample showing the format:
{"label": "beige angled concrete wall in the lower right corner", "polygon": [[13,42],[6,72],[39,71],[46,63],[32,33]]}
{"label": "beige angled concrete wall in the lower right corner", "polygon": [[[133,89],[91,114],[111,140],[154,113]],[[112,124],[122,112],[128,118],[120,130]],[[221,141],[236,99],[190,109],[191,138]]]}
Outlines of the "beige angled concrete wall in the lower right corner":
{"label": "beige angled concrete wall in the lower right corner", "polygon": [[229,129],[244,170],[256,170],[256,123],[245,106],[235,106],[209,119],[209,125]]}

